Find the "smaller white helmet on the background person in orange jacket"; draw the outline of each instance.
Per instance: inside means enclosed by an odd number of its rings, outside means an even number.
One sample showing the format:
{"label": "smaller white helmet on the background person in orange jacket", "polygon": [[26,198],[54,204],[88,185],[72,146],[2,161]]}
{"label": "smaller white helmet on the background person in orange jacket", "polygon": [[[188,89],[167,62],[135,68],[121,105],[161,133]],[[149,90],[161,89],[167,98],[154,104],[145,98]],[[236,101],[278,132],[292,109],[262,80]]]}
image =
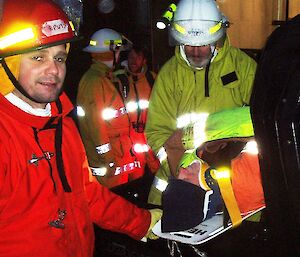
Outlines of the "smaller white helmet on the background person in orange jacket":
{"label": "smaller white helmet on the background person in orange jacket", "polygon": [[91,39],[90,44],[83,49],[89,53],[104,53],[114,50],[123,50],[121,47],[124,44],[122,35],[113,29],[100,29],[96,31]]}

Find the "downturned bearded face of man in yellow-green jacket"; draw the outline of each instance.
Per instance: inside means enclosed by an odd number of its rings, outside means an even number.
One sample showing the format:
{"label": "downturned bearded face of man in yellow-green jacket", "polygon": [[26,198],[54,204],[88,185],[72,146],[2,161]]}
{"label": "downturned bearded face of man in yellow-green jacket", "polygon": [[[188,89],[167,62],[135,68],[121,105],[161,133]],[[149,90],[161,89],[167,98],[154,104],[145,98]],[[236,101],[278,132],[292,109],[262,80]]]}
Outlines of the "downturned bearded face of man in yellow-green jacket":
{"label": "downturned bearded face of man in yellow-green jacket", "polygon": [[191,66],[204,68],[212,57],[210,45],[206,46],[184,46],[186,57]]}

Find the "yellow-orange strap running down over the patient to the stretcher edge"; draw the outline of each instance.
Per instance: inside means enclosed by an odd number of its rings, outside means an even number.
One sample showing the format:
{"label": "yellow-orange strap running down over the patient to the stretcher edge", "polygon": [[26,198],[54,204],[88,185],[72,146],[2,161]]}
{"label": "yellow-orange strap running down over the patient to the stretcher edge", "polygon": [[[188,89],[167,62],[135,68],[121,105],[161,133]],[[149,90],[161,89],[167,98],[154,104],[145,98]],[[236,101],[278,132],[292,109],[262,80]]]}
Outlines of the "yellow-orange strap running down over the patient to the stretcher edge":
{"label": "yellow-orange strap running down over the patient to the stretcher edge", "polygon": [[242,223],[242,216],[233,193],[230,176],[228,176],[228,172],[217,172],[215,175],[222,198],[228,210],[232,226],[237,227]]}

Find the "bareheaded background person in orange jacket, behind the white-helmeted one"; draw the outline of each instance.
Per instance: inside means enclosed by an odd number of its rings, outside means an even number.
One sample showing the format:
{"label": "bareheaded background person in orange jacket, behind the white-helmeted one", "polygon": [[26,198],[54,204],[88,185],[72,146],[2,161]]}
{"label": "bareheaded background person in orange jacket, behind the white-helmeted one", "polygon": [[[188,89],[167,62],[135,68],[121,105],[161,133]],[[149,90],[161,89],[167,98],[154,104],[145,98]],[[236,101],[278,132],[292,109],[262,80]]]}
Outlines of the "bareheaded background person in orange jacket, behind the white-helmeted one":
{"label": "bareheaded background person in orange jacket, behind the white-helmeted one", "polygon": [[[113,190],[121,195],[129,195],[131,199],[137,198],[137,203],[147,203],[147,198],[152,184],[154,174],[159,168],[159,160],[152,149],[148,146],[144,129],[147,120],[147,109],[149,98],[154,84],[156,73],[149,70],[147,48],[140,44],[134,44],[129,50],[127,59],[122,62],[126,68],[128,79],[127,105],[136,106],[136,110],[131,110],[128,115],[134,131],[132,138],[144,142],[147,146],[145,151],[145,171],[143,176],[139,173],[130,175],[131,182],[118,186]],[[136,178],[136,179],[135,179]],[[134,196],[134,197],[132,197]]]}

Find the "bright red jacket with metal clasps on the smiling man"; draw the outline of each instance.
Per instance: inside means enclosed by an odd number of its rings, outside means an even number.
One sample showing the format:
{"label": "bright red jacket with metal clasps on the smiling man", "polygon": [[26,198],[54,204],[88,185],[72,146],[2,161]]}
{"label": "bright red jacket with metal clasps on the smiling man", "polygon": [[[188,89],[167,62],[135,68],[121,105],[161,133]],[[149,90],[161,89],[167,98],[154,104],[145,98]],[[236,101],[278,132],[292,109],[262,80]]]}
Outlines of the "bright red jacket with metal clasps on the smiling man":
{"label": "bright red jacket with metal clasps on the smiling man", "polygon": [[[0,256],[92,257],[93,223],[135,239],[148,231],[148,211],[92,176],[78,130],[67,117],[71,102],[65,94],[60,101],[62,112],[51,103],[51,117],[39,117],[0,95]],[[64,174],[57,168],[60,117]]]}

